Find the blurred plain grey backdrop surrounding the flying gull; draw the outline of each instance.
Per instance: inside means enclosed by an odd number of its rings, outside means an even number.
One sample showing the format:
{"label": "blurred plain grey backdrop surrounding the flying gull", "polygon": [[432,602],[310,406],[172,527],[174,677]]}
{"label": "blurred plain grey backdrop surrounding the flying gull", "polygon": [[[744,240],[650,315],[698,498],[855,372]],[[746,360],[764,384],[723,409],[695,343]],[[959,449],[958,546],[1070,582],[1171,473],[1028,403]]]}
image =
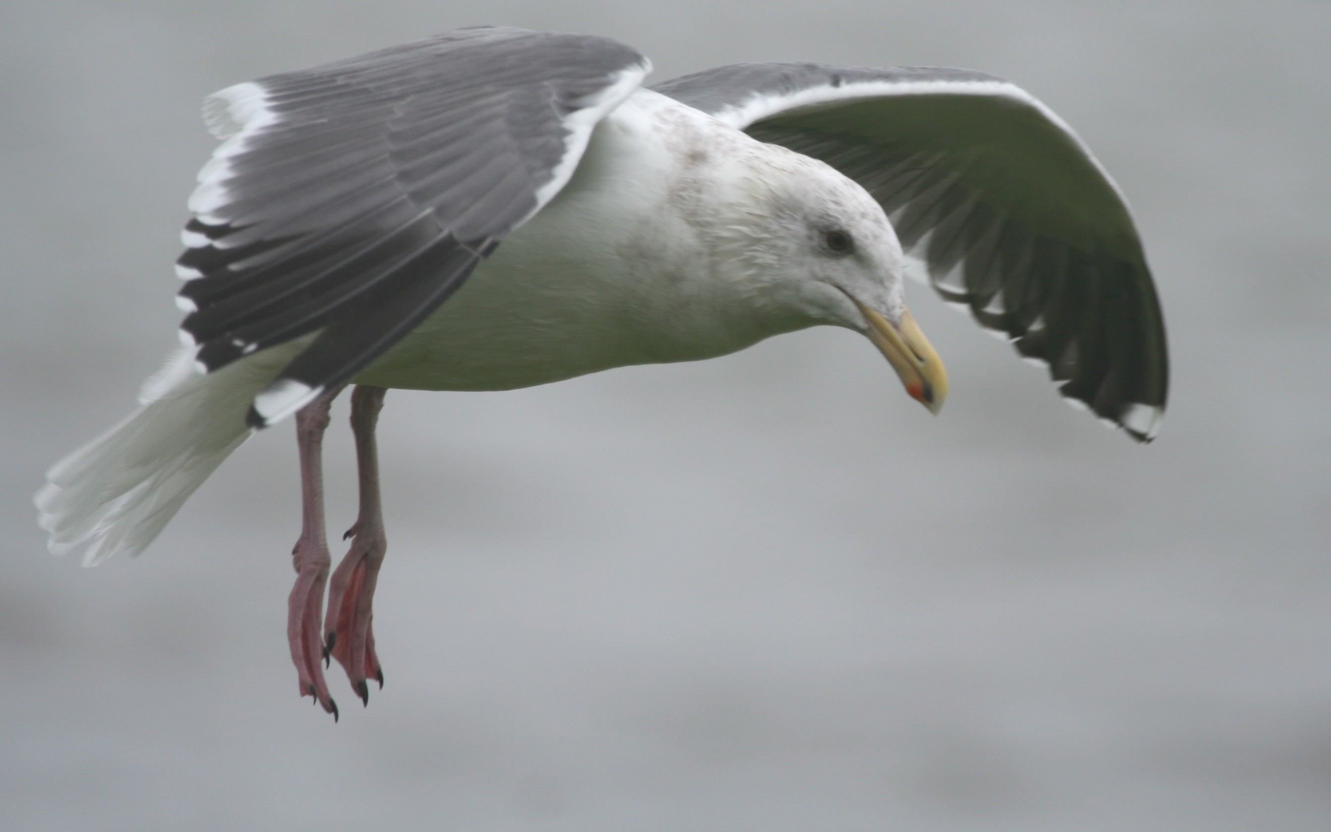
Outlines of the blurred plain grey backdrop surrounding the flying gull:
{"label": "blurred plain grey backdrop surrounding the flying gull", "polygon": [[[31,493],[174,343],[221,87],[502,23],[717,64],[1006,76],[1133,201],[1174,359],[1137,447],[926,290],[862,338],[389,395],[387,687],[297,698],[290,425],[138,560]],[[1331,828],[1331,5],[5,0],[0,827]],[[345,405],[343,405],[345,407]],[[330,526],[354,515],[338,410]]]}

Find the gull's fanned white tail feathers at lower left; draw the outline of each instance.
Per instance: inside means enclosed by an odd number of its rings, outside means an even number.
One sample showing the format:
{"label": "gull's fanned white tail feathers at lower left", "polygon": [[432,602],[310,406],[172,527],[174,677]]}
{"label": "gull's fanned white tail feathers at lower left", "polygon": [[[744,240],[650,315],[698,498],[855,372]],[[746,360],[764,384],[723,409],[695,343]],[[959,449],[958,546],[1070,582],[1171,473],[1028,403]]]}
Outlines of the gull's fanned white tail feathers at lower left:
{"label": "gull's fanned white tail feathers at lower left", "polygon": [[249,438],[254,395],[293,351],[265,350],[208,375],[193,347],[177,353],[144,385],[134,413],[47,471],[33,502],[52,554],[87,544],[84,566],[95,566],[141,552]]}

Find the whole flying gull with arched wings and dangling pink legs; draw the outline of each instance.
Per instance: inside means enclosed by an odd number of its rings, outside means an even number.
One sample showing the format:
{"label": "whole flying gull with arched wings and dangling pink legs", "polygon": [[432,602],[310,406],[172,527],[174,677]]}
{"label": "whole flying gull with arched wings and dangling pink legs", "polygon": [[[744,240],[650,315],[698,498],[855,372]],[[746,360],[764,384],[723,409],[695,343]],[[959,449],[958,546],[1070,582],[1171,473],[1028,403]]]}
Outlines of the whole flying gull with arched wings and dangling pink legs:
{"label": "whole flying gull with arched wings and dangling pink legs", "polygon": [[[256,430],[295,415],[301,695],[383,684],[374,426],[389,387],[508,390],[865,334],[937,411],[905,252],[1069,402],[1150,441],[1165,329],[1118,186],[1021,88],[966,69],[736,64],[640,87],[604,37],[469,28],[210,96],[176,270],[182,346],[140,407],[48,473],[53,552],[146,547]],[[447,302],[446,302],[447,301]],[[346,386],[359,469],[329,575],[321,445]],[[327,586],[327,612],[323,592]]]}

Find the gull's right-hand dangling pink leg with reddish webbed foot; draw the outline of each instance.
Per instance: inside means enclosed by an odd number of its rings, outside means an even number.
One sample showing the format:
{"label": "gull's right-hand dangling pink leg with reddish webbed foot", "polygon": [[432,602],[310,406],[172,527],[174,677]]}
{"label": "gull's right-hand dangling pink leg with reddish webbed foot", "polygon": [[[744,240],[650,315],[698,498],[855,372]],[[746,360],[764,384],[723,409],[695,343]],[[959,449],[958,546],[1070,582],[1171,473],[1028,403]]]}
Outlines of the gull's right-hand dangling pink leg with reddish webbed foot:
{"label": "gull's right-hand dangling pink leg with reddish webbed foot", "polygon": [[323,619],[325,650],[338,660],[351,680],[351,690],[361,702],[370,704],[373,676],[383,688],[383,668],[374,652],[374,618],[371,602],[379,564],[387,550],[383,534],[383,511],[379,502],[379,454],[374,443],[374,425],[383,407],[383,387],[357,385],[351,393],[351,430],[355,433],[355,461],[361,479],[361,513],[355,524],[342,535],[351,538],[351,548],[338,563],[329,584],[329,611]]}

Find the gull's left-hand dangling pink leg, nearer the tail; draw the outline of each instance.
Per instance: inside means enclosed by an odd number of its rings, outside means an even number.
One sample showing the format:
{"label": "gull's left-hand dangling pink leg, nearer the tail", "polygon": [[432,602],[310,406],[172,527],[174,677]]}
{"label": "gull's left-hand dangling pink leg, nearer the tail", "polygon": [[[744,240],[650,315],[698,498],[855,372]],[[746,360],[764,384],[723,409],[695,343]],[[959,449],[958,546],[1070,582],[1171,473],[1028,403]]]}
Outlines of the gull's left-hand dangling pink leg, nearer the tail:
{"label": "gull's left-hand dangling pink leg, nearer the tail", "polygon": [[323,431],[329,407],[342,387],[325,393],[295,414],[295,442],[301,451],[301,538],[291,550],[295,586],[287,599],[286,639],[299,675],[301,696],[314,702],[337,720],[337,703],[323,682],[319,659],[327,659],[319,639],[323,584],[327,582],[329,543],[323,532]]}

